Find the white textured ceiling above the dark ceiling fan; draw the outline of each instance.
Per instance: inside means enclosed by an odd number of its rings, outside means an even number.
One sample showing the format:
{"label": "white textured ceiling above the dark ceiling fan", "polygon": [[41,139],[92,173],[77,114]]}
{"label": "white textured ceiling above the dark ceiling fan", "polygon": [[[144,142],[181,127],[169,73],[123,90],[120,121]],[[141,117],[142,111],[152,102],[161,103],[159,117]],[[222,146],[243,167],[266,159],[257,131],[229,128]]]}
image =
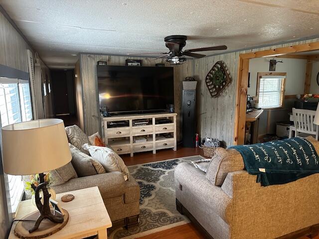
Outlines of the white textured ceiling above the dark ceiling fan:
{"label": "white textured ceiling above the dark ceiling fan", "polygon": [[[187,35],[185,49],[227,51],[319,34],[319,0],[0,0],[50,68],[72,53],[165,52],[163,38]],[[207,55],[218,52],[206,52]],[[68,65],[68,66],[66,66]]]}

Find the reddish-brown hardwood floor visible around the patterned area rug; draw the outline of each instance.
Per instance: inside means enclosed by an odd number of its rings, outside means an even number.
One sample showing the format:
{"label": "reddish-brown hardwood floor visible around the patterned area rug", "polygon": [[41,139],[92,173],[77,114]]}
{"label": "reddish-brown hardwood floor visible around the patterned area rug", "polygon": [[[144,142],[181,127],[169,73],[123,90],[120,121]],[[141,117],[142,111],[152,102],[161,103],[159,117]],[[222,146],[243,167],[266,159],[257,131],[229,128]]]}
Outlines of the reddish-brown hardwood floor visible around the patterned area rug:
{"label": "reddish-brown hardwood floor visible around the patterned area rug", "polygon": [[[183,148],[177,147],[176,151],[171,149],[158,150],[156,154],[152,152],[135,153],[133,157],[130,155],[121,155],[127,166],[150,163],[161,160],[187,157],[194,155],[203,155],[203,150],[200,148]],[[167,229],[158,233],[150,234],[139,239],[205,239],[205,237],[198,231],[192,223],[188,223],[175,228]],[[309,239],[308,237],[302,237],[299,239]],[[319,239],[319,236],[313,238]]]}

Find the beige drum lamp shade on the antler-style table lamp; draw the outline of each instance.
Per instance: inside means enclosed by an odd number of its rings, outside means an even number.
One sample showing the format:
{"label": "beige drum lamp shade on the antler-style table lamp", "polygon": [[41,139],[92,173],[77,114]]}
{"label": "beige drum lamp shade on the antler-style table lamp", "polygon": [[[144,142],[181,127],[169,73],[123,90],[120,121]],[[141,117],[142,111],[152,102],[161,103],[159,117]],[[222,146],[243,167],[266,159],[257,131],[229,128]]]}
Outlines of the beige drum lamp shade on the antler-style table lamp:
{"label": "beige drum lamp shade on the antler-style table lamp", "polygon": [[62,119],[38,119],[2,127],[3,171],[30,175],[71,161]]}

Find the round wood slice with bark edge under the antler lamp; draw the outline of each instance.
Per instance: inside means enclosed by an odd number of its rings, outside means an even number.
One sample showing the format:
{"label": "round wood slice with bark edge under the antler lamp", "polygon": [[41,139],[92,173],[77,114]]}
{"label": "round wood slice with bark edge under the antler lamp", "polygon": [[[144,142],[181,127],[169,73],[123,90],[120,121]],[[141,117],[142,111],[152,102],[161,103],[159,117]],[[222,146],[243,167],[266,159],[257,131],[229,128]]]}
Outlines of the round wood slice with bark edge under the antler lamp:
{"label": "round wood slice with bark edge under the antler lamp", "polygon": [[[48,236],[51,236],[52,234],[55,234],[56,232],[60,231],[69,221],[69,213],[65,209],[64,211],[64,221],[63,223],[52,223],[48,219],[43,219],[41,222],[39,228],[34,231],[33,233],[29,233],[29,229],[31,229],[34,226],[35,222],[26,222],[26,221],[20,221],[16,224],[14,228],[14,235],[18,238],[23,239],[40,239],[40,238],[46,238]],[[36,220],[39,216],[39,212],[33,212],[29,215],[26,215],[21,220]],[[62,216],[61,216],[62,217]]]}

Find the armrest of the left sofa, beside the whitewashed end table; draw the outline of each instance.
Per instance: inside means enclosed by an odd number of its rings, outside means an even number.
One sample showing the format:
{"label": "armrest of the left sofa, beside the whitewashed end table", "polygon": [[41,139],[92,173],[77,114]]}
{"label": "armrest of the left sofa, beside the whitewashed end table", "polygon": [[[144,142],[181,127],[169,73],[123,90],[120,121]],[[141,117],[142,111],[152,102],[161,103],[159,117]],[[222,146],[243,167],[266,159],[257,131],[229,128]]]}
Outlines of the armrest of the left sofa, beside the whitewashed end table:
{"label": "armrest of the left sofa, beside the whitewashed end table", "polygon": [[98,186],[102,198],[106,199],[123,195],[126,192],[127,182],[129,181],[124,180],[121,172],[110,172],[80,178],[72,178],[66,183],[52,188],[56,191],[56,193],[64,193]]}

